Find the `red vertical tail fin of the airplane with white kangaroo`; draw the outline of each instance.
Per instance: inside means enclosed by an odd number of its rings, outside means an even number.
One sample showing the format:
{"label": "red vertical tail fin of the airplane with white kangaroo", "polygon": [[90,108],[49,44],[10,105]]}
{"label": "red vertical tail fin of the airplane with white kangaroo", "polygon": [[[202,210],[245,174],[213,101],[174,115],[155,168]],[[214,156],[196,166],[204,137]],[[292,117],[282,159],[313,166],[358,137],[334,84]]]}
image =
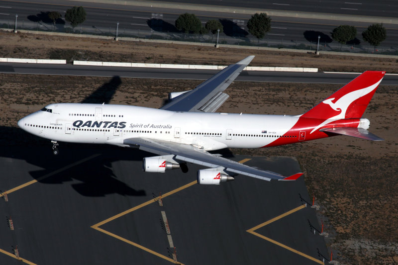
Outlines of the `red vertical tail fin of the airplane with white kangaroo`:
{"label": "red vertical tail fin of the airplane with white kangaroo", "polygon": [[366,71],[301,117],[319,119],[361,118],[386,72]]}

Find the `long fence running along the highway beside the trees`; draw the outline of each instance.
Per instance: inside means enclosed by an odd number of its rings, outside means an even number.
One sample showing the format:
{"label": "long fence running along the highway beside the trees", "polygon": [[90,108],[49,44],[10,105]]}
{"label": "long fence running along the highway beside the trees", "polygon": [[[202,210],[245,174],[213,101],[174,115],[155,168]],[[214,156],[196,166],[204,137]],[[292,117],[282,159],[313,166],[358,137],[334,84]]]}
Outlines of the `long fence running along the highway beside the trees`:
{"label": "long fence running along the highway beside the trees", "polygon": [[[163,40],[176,40],[176,41],[189,41],[199,43],[215,43],[216,34],[186,34],[183,32],[173,32],[164,30],[162,27],[163,20],[159,20],[160,23],[152,23],[148,25],[149,29],[140,30],[126,28],[118,26],[118,37],[132,37],[142,39],[163,39]],[[159,22],[158,21],[158,22]],[[165,22],[167,23],[167,22]],[[167,23],[169,24],[169,23]],[[13,29],[15,26],[15,20],[8,19],[8,21],[0,20],[1,28]],[[90,34],[90,35],[102,35],[114,37],[116,35],[116,23],[109,27],[98,27],[88,26],[87,24],[78,25],[72,29],[67,24],[53,24],[44,23],[42,21],[32,22],[26,20],[18,20],[17,29],[36,30],[36,31],[55,31],[55,32],[66,32],[76,34]],[[236,30],[237,29],[237,30]],[[224,28],[225,30],[225,28]],[[236,31],[236,32],[234,32]],[[276,37],[265,37],[264,39],[258,40],[254,36],[242,35],[244,32],[240,25],[235,23],[232,30],[228,30],[228,35],[220,33],[218,43],[219,44],[231,44],[231,45],[242,45],[242,46],[259,46],[259,47],[273,47],[273,48],[290,48],[298,50],[313,50],[317,49],[317,41],[302,41],[302,40],[291,40]],[[352,44],[352,45],[340,45],[339,43],[331,42],[330,38],[327,37],[328,41],[319,42],[319,51],[335,51],[335,52],[353,52],[353,53],[376,53],[385,55],[398,55],[398,47],[387,47],[378,46],[377,48],[370,45],[363,44]]]}

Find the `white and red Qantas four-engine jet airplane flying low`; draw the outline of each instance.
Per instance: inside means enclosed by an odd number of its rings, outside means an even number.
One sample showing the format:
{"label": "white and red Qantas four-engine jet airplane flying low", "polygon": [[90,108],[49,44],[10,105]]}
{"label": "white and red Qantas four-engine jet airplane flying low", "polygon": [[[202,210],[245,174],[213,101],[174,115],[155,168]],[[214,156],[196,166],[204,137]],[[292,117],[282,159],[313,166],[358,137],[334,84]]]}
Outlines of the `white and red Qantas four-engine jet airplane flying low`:
{"label": "white and red Qantas four-engine jet airplane flying low", "polygon": [[224,68],[193,90],[169,93],[159,109],[113,104],[54,103],[27,115],[18,126],[51,140],[139,148],[158,156],[143,159],[143,171],[165,172],[187,163],[199,170],[199,184],[220,184],[245,175],[263,180],[296,180],[292,176],[252,168],[209,151],[224,148],[265,148],[347,135],[372,141],[370,121],[362,118],[385,72],[366,71],[301,115],[215,113],[229,97],[223,91],[254,56]]}

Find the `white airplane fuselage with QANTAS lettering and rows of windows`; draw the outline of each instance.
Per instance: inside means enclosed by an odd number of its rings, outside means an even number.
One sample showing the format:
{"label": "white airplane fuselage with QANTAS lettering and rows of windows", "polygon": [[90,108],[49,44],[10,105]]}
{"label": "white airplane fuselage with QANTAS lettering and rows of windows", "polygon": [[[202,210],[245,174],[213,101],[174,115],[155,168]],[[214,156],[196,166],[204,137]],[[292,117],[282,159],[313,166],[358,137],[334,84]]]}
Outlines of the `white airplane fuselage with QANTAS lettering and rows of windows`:
{"label": "white airplane fuselage with QANTAS lettering and rows of windows", "polygon": [[24,117],[18,125],[53,141],[124,145],[124,139],[140,137],[195,145],[207,151],[264,147],[283,135],[297,142],[299,133],[292,131],[286,136],[298,116],[79,103],[50,104],[45,109]]}

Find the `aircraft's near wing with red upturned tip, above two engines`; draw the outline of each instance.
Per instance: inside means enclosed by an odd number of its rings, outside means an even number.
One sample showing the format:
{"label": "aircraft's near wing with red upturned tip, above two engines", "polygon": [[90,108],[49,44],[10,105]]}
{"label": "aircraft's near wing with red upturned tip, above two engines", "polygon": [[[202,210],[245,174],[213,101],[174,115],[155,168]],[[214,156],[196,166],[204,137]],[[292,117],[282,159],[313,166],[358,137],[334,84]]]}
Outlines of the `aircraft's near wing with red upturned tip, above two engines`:
{"label": "aircraft's near wing with red upturned tip, above two engines", "polygon": [[223,167],[228,174],[242,174],[249,177],[260,178],[270,181],[278,180],[296,180],[302,173],[290,177],[284,177],[278,173],[255,169],[238,162],[212,155],[204,150],[187,144],[180,144],[162,140],[148,138],[129,138],[124,140],[124,144],[130,146],[139,146],[139,149],[158,155],[175,155],[176,160],[194,163],[197,165],[218,168]]}

